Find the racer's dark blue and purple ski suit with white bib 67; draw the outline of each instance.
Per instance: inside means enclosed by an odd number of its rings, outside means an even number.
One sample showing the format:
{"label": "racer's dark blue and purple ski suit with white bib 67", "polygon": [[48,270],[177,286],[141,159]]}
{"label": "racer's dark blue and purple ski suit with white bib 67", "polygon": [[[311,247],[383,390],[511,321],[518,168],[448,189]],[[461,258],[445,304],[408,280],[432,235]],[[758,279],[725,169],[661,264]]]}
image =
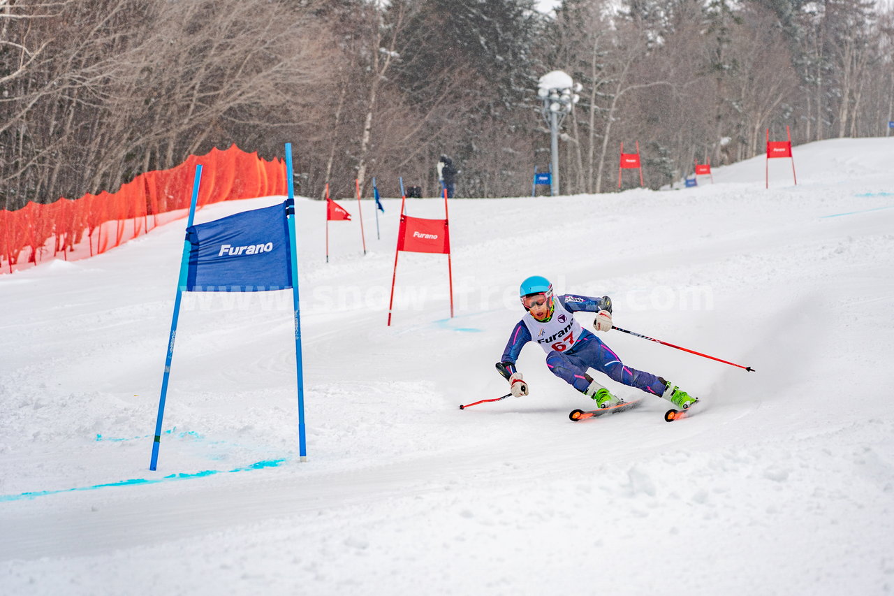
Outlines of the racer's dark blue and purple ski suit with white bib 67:
{"label": "racer's dark blue and purple ski suit with white bib 67", "polygon": [[662,396],[665,386],[662,380],[650,372],[625,366],[618,354],[612,352],[592,332],[581,328],[574,319],[573,313],[578,311],[611,312],[611,299],[608,296],[591,298],[563,294],[553,300],[555,311],[548,321],[538,321],[528,312],[512,330],[502,354],[501,363],[505,370],[510,374],[515,372],[515,362],[519,359],[521,348],[527,342],[536,341],[546,352],[546,366],[552,370],[552,374],[564,379],[580,392],[586,391],[593,380],[587,374],[587,369],[594,369],[629,387]]}

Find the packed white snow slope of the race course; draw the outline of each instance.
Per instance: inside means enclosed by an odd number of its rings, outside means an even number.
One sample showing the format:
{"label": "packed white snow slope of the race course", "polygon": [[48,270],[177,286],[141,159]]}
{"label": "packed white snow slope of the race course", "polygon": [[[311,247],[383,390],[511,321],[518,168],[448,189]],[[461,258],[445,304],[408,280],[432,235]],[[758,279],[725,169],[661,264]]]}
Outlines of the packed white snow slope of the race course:
{"label": "packed white snow slope of the race course", "polygon": [[[304,463],[291,293],[186,294],[148,471],[182,220],[0,276],[0,592],[894,592],[894,139],[795,159],[769,190],[762,157],[685,190],[451,200],[455,316],[446,257],[401,253],[391,327],[399,201],[381,240],[364,201],[366,255],[343,202],[326,263],[299,199]],[[530,396],[460,410],[508,392],[529,275],[755,372],[611,331],[699,411],[571,422],[587,400],[536,345]]]}

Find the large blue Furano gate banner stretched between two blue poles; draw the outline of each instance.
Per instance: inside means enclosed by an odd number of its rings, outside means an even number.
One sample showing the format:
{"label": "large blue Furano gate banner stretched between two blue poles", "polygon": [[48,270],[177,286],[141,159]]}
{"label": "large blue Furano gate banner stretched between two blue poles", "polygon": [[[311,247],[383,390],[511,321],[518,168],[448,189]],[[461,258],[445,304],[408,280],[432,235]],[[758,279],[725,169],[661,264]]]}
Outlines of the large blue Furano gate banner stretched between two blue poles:
{"label": "large blue Furano gate banner stretched between two blue poles", "polygon": [[286,209],[291,200],[186,228],[187,292],[266,292],[291,287]]}

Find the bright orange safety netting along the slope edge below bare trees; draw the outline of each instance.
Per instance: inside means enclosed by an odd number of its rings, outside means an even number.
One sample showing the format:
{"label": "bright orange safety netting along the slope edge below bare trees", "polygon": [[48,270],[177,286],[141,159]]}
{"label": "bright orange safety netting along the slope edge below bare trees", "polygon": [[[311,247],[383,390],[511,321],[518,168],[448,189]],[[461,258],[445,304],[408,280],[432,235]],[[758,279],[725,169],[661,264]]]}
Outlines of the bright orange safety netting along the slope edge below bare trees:
{"label": "bright orange safety netting along the slope edge below bare trees", "polygon": [[89,251],[83,256],[92,256],[146,234],[158,225],[159,214],[189,209],[197,164],[202,165],[199,206],[287,192],[282,159],[266,161],[235,145],[211,149],[169,170],[140,174],[118,192],[51,204],[29,202],[17,211],[0,209],[0,273],[12,272],[17,263],[37,264],[50,251],[53,257],[62,252],[68,260],[85,240]]}

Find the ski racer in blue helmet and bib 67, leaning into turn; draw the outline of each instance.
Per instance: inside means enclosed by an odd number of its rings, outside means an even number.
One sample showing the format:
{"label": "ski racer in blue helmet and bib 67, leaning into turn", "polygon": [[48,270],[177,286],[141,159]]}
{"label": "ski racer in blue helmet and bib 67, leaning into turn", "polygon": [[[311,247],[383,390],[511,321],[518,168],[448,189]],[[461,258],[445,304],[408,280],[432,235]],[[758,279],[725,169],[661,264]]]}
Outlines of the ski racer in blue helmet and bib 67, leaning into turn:
{"label": "ski racer in blue helmet and bib 67, leaning into turn", "polygon": [[513,396],[527,396],[527,383],[516,370],[515,362],[521,348],[529,341],[536,341],[544,348],[546,366],[552,370],[552,374],[564,379],[585,396],[591,397],[597,407],[609,407],[620,400],[587,374],[587,369],[590,368],[604,372],[624,385],[664,397],[681,409],[698,401],[696,397],[689,396],[661,377],[624,366],[618,354],[580,326],[574,318],[574,312],[587,311],[596,313],[593,321],[596,331],[611,329],[611,299],[608,296],[590,298],[563,294],[556,298],[552,295],[552,284],[548,279],[532,276],[521,283],[519,297],[527,314],[512,330],[501,362],[496,365],[502,376],[509,380]]}

